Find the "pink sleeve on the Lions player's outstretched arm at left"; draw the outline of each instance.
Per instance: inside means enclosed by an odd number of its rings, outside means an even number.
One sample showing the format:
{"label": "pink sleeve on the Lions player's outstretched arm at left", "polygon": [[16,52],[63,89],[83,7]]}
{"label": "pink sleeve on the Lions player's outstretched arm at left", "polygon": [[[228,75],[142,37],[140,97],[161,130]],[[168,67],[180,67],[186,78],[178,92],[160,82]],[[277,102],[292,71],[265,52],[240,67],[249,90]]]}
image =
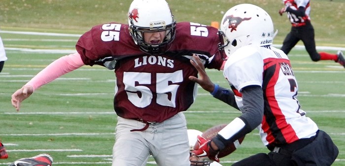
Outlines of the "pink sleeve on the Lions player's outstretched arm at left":
{"label": "pink sleeve on the Lions player's outstretched arm at left", "polygon": [[56,78],[84,66],[79,53],[63,56],[41,70],[34,78],[25,85],[34,87],[34,91],[44,84],[47,84]]}

